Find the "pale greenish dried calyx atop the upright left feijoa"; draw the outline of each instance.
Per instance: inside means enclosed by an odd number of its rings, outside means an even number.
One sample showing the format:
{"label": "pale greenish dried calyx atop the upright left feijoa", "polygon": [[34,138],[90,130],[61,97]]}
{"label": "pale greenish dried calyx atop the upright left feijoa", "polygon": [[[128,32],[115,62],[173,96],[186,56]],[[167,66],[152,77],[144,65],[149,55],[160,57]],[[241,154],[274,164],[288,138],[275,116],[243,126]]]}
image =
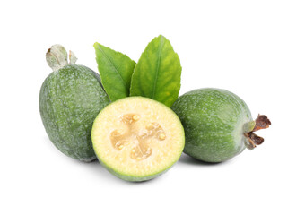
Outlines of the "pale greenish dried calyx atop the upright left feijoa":
{"label": "pale greenish dried calyx atop the upright left feijoa", "polygon": [[67,52],[65,47],[61,45],[53,45],[48,48],[48,52],[46,54],[46,59],[49,67],[52,68],[53,71],[57,71],[58,69],[64,67],[66,64],[75,64],[77,57],[74,55],[72,51],[69,51],[69,61],[67,59]]}

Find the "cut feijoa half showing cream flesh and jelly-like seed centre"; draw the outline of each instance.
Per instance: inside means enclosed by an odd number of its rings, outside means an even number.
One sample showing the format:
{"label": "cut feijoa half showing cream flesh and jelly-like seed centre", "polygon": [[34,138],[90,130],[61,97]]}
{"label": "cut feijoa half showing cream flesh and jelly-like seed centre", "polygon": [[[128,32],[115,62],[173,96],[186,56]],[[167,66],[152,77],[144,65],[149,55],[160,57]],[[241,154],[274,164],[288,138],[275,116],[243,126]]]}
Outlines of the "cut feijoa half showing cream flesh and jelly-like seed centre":
{"label": "cut feijoa half showing cream flesh and jelly-like seed centre", "polygon": [[179,117],[169,107],[153,99],[128,97],[100,111],[92,143],[100,163],[113,175],[145,181],[179,160],[185,137]]}

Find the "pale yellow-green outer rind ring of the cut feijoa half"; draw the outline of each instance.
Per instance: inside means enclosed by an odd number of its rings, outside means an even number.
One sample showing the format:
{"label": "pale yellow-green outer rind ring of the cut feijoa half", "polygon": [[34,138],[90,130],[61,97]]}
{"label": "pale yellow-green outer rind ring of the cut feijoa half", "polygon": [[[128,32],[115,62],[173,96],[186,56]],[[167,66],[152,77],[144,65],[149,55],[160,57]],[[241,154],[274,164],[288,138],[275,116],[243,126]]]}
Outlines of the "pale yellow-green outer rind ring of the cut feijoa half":
{"label": "pale yellow-green outer rind ring of the cut feijoa half", "polygon": [[[100,150],[98,149],[99,148],[98,136],[100,135],[99,130],[101,128],[101,127],[99,128],[99,126],[101,126],[101,125],[99,125],[100,118],[101,117],[105,118],[105,115],[107,114],[109,109],[118,108],[120,105],[124,106],[124,104],[127,104],[127,102],[133,102],[133,101],[142,102],[142,103],[150,102],[153,104],[157,104],[158,106],[161,106],[162,108],[165,108],[166,113],[169,114],[170,117],[172,118],[173,124],[179,126],[179,127],[177,127],[177,129],[179,129],[178,135],[180,135],[179,144],[181,144],[181,147],[179,148],[179,151],[175,151],[175,154],[174,154],[175,159],[170,160],[170,162],[166,164],[166,168],[161,168],[161,169],[155,168],[153,171],[150,171],[150,172],[147,172],[144,174],[138,174],[138,175],[126,173],[126,172],[122,171],[121,169],[116,168],[115,165],[112,165],[111,163],[109,163],[109,159],[107,160],[107,159],[103,158],[103,156],[101,156],[101,154],[100,154]],[[179,121],[179,117],[176,116],[176,114],[169,107],[166,107],[165,105],[163,105],[160,102],[155,101],[153,99],[148,99],[148,98],[144,98],[144,97],[128,97],[125,99],[119,99],[100,111],[100,114],[96,117],[96,119],[93,123],[92,142],[93,142],[93,149],[94,149],[101,165],[104,166],[105,168],[107,168],[109,170],[109,172],[112,173],[114,176],[118,176],[119,178],[126,180],[126,181],[145,181],[145,180],[153,179],[156,176],[160,176],[179,160],[179,157],[183,151],[185,137],[184,137],[183,127]]]}

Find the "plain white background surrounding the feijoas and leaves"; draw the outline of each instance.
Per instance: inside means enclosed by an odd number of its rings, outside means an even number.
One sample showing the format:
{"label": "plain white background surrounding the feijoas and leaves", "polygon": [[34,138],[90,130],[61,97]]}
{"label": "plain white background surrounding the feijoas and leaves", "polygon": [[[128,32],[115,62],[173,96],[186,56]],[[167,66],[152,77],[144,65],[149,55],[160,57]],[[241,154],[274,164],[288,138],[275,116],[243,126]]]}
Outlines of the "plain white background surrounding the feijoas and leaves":
{"label": "plain white background surrounding the feijoas and leaves", "polygon": [[[2,1],[0,214],[304,214],[304,1]],[[97,71],[93,43],[135,61],[159,34],[182,64],[180,95],[231,90],[272,126],[265,142],[209,165],[182,155],[128,183],[48,140],[39,89],[59,43]]]}

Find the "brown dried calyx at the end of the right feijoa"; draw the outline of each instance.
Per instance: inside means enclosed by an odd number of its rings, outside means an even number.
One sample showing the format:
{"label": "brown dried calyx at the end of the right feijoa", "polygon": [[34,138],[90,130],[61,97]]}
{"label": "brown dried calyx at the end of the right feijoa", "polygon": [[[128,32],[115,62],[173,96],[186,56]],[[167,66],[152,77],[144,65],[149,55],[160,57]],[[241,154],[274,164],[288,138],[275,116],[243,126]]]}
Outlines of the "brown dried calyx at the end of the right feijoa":
{"label": "brown dried calyx at the end of the right feijoa", "polygon": [[269,127],[269,125],[271,125],[270,120],[265,115],[258,115],[257,119],[254,122],[255,125],[252,131],[244,133],[244,135],[248,138],[248,141],[246,142],[246,147],[248,148],[248,150],[253,150],[257,147],[257,145],[260,145],[264,142],[264,138],[258,136],[254,132],[260,129],[266,129]]}

